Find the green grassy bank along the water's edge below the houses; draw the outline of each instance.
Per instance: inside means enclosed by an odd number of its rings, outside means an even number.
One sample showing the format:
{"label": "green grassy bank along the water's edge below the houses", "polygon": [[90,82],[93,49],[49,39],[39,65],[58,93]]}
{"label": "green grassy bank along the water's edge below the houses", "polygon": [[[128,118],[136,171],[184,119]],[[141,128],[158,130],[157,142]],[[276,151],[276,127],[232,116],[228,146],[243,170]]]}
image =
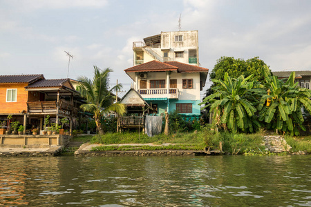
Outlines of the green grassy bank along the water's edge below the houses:
{"label": "green grassy bank along the water's edge below the houses", "polygon": [[[229,132],[214,132],[209,128],[201,128],[198,132],[177,132],[173,135],[164,134],[148,137],[138,132],[106,133],[95,135],[91,138],[92,144],[164,144],[169,146],[100,146],[93,150],[223,150],[228,154],[244,155],[271,155],[265,151],[263,145],[265,132],[256,134],[234,134]],[[309,137],[285,137],[292,146],[292,152],[305,151],[311,153],[311,136]],[[222,149],[220,149],[220,143]]]}

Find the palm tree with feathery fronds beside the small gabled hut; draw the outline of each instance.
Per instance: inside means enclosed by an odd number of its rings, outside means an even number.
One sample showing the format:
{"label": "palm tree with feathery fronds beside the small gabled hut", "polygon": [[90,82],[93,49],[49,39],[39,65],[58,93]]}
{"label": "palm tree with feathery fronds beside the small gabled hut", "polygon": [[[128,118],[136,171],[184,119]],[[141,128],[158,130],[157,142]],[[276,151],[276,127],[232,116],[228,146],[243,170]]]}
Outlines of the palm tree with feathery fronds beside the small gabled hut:
{"label": "palm tree with feathery fronds beside the small gabled hut", "polygon": [[112,72],[110,68],[100,70],[97,66],[94,66],[94,77],[88,79],[87,77],[79,77],[79,86],[77,91],[81,93],[81,96],[86,99],[88,103],[84,103],[80,106],[84,111],[93,113],[97,131],[100,135],[104,135],[102,129],[101,119],[106,112],[117,112],[118,115],[123,115],[126,112],[126,108],[122,103],[113,103],[115,97],[111,95],[111,91],[120,90],[121,84],[113,86],[110,90],[109,87],[109,72]]}

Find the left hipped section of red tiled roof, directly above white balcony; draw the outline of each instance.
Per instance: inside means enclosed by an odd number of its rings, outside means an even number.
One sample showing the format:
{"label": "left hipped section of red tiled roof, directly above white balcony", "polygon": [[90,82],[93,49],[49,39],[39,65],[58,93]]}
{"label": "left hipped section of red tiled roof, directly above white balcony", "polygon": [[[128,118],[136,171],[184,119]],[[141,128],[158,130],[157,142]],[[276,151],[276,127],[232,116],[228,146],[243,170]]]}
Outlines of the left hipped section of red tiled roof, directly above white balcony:
{"label": "left hipped section of red tiled roof, directly above white balcony", "polygon": [[162,63],[159,61],[150,61],[147,63],[142,63],[138,66],[133,66],[131,68],[127,68],[125,72],[158,72],[158,71],[168,71],[168,70],[177,70],[178,67],[171,66],[167,63]]}

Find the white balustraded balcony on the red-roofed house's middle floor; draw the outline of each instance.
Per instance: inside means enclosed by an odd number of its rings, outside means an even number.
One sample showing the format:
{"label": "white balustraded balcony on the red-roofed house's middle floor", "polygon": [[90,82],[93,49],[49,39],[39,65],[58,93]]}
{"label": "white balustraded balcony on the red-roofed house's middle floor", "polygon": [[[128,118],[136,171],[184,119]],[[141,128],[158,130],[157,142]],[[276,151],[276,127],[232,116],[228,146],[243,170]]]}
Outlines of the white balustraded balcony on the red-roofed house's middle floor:
{"label": "white balustraded balcony on the red-roofed house's middle floor", "polygon": [[169,92],[167,92],[166,88],[139,89],[138,93],[144,99],[152,99],[152,98],[178,99],[178,88],[169,88]]}

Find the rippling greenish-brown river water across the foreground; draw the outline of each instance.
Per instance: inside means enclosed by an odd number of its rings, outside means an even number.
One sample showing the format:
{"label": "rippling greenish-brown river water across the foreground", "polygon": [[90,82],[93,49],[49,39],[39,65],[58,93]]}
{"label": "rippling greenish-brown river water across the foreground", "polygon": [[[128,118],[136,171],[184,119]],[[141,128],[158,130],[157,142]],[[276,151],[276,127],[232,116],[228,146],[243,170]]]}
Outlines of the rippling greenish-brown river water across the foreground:
{"label": "rippling greenish-brown river water across the foreground", "polygon": [[311,206],[311,155],[0,157],[7,206]]}

